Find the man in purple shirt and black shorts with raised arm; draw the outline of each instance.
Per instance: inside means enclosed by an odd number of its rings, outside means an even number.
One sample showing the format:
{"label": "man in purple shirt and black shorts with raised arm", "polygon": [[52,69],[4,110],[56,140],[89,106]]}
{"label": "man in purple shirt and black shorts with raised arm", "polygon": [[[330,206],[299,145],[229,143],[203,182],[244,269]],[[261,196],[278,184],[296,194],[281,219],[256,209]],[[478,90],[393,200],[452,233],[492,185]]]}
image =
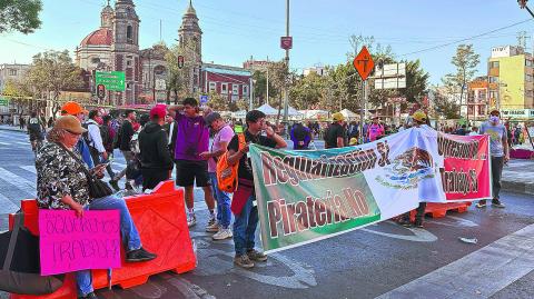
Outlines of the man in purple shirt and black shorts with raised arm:
{"label": "man in purple shirt and black shorts with raised arm", "polygon": [[[205,108],[205,116],[209,108]],[[199,107],[194,98],[186,98],[182,104],[169,107],[177,122],[177,137],[175,148],[176,183],[186,189],[186,206],[188,210],[187,223],[192,227],[197,223],[194,207],[192,188],[196,183],[204,190],[204,200],[208,206],[209,220],[207,228],[216,225],[215,199],[208,178],[208,162],[200,157],[201,152],[208,151],[209,131],[205,119],[199,116]]]}

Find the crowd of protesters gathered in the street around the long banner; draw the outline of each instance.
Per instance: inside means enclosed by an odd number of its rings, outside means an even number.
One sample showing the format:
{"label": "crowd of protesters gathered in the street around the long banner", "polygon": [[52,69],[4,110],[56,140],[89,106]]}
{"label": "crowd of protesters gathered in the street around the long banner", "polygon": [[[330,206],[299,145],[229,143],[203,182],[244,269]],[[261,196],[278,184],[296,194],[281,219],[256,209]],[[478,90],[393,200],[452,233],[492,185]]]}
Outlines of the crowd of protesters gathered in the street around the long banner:
{"label": "crowd of protesters gathered in the street around the long banner", "polygon": [[[121,190],[119,181],[126,177],[123,189],[147,191],[171,178],[176,169],[176,185],[184,187],[187,207],[187,225],[197,225],[194,186],[204,190],[208,221],[205,230],[212,232],[214,240],[234,239],[235,258],[238,267],[253,268],[265,262],[267,256],[255,248],[255,231],[258,210],[254,191],[254,176],[248,155],[249,144],[270,148],[286,148],[281,127],[273,126],[266,114],[251,110],[245,122],[225,120],[218,112],[201,108],[194,98],[186,98],[181,104],[167,107],[156,104],[148,113],[137,114],[127,110],[123,114],[105,114],[101,110],[85,110],[77,102],[67,102],[48,131],[36,113],[32,113],[28,130],[34,144],[38,173],[38,202],[46,209],[72,209],[78,216],[85,210],[118,209],[120,226],[127,252],[127,261],[149,261],[156,255],[145,250],[137,228],[120,193],[93,198],[89,192],[88,176],[102,179],[108,172],[109,185]],[[491,136],[493,195],[492,205],[504,208],[500,200],[503,165],[510,159],[508,133],[500,120],[497,110],[481,128],[459,126],[455,133],[487,133]],[[357,122],[347,122],[337,112],[332,122],[317,136],[317,123],[297,122],[288,136],[293,149],[307,150],[316,138],[324,138],[325,148],[342,148],[384,138],[411,126],[428,126],[423,111],[412,116],[408,124],[395,128],[373,118],[370,123],[359,128]],[[48,142],[42,139],[46,132]],[[210,142],[211,140],[211,142]],[[39,144],[38,144],[39,143]],[[43,143],[43,144],[41,144]],[[113,152],[119,150],[127,165],[120,172],[111,168]],[[221,188],[224,173],[219,171],[220,160],[237,167],[237,188]],[[233,195],[231,195],[233,193]],[[231,197],[231,200],[230,200]],[[405,226],[423,226],[425,210],[423,202],[417,209],[414,223],[409,216],[400,218]],[[485,200],[476,207],[484,208]],[[90,271],[76,275],[81,298],[96,298]]]}

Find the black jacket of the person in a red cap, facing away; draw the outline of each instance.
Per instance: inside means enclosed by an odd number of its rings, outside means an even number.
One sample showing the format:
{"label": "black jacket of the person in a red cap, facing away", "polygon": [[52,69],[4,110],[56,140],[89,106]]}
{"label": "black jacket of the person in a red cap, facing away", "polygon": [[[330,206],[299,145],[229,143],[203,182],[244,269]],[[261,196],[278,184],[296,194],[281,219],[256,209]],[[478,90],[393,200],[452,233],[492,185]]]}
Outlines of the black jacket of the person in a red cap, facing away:
{"label": "black jacket of the person in a red cap, facing away", "polygon": [[149,122],[139,133],[140,161],[144,169],[172,169],[172,158],[167,147],[165,130],[155,122]]}

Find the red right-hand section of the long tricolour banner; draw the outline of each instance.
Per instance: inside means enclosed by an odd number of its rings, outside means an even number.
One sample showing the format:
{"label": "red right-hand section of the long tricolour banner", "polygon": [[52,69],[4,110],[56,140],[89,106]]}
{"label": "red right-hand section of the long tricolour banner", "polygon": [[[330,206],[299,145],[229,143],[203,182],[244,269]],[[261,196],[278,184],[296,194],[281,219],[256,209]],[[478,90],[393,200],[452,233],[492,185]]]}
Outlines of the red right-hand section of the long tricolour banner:
{"label": "red right-hand section of the long tricolour banner", "polygon": [[443,155],[442,182],[447,200],[492,197],[488,136],[438,134]]}

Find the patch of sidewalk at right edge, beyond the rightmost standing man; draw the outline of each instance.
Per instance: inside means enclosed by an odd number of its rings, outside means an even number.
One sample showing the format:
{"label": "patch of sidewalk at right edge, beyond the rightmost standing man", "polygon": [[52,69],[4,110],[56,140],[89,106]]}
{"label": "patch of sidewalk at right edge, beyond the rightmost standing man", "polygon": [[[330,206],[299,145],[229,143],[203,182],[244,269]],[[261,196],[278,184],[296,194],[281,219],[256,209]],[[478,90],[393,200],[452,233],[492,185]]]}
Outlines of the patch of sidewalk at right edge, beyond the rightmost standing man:
{"label": "patch of sidewalk at right edge, beyond the rightmost standing man", "polygon": [[534,160],[510,160],[501,181],[503,191],[534,195]]}

